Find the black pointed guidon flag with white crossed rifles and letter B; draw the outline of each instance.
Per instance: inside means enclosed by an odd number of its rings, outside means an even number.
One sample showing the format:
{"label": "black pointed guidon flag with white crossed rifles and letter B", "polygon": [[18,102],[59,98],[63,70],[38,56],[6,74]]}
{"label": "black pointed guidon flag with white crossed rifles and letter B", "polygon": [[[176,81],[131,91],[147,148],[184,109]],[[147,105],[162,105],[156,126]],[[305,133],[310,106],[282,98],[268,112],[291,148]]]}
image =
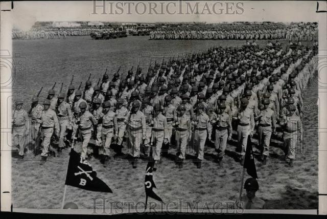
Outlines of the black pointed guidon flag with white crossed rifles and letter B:
{"label": "black pointed guidon flag with white crossed rifles and letter B", "polygon": [[65,185],[89,191],[111,192],[111,189],[97,177],[91,165],[72,149],[69,156]]}

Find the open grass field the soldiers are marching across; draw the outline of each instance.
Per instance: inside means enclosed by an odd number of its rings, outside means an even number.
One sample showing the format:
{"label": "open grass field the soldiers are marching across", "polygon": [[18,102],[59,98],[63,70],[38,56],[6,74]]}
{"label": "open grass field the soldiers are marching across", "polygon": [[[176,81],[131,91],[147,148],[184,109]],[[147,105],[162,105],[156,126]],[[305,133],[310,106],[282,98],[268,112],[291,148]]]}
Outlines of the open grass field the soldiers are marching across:
{"label": "open grass field the soldiers are marching across", "polygon": [[[282,40],[281,40],[282,41]],[[121,65],[121,73],[126,74],[137,58],[146,57],[147,53],[175,54],[202,51],[208,47],[222,45],[242,45],[245,41],[235,40],[147,40],[147,37],[127,37],[111,40],[91,40],[90,37],[68,37],[54,40],[14,40],[13,50],[27,59],[27,87],[20,90],[19,99],[30,99],[33,93],[43,86],[45,90],[56,81],[64,82],[64,92],[68,81],[74,74],[74,84],[85,83],[89,73],[93,82],[102,77],[105,69],[112,75]],[[283,42],[283,41],[282,41]],[[265,40],[259,45],[265,45]],[[162,50],[162,51],[159,51]],[[142,54],[143,53],[143,54]],[[166,55],[165,55],[166,56]],[[161,57],[162,59],[162,57]],[[143,70],[144,72],[147,69]],[[110,77],[109,75],[109,77]],[[19,79],[17,84],[24,84]],[[309,87],[311,85],[309,84]],[[56,91],[58,92],[58,86]],[[303,119],[305,128],[304,143],[298,145],[293,168],[278,160],[283,155],[282,142],[272,140],[270,159],[263,166],[255,161],[260,189],[257,195],[266,201],[268,209],[317,209],[318,208],[318,106],[317,90],[305,92],[309,109]],[[155,192],[167,203],[180,199],[185,202],[207,203],[209,207],[217,201],[235,201],[240,188],[241,165],[235,160],[236,138],[227,145],[224,169],[210,160],[214,153],[212,145],[205,146],[202,168],[197,169],[193,162],[185,162],[183,169],[178,169],[173,161],[176,149],[171,148],[169,158],[163,158],[154,172]],[[254,135],[253,142],[256,143]],[[14,208],[60,208],[68,151],[63,151],[60,158],[50,158],[45,165],[39,166],[40,159],[32,154],[26,156],[26,162],[12,162],[12,201]],[[127,160],[111,158],[109,166],[103,168],[99,160],[91,158],[90,163],[113,193],[90,192],[69,187],[66,202],[75,202],[79,208],[91,209],[95,198],[106,198],[110,202],[145,201],[144,173],[147,162],[141,162],[132,169]],[[247,174],[246,177],[247,178]],[[244,191],[245,192],[245,191]],[[153,201],[153,200],[149,200]],[[142,206],[141,206],[142,207]]]}

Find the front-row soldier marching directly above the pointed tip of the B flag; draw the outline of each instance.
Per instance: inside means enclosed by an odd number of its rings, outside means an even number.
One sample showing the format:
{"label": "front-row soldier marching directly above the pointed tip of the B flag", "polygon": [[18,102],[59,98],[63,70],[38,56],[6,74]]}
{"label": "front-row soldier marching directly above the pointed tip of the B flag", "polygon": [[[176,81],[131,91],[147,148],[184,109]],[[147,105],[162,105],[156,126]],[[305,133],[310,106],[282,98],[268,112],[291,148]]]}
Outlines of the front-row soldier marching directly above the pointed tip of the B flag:
{"label": "front-row soldier marching directly above the pointed tip of the B flag", "polygon": [[118,124],[115,113],[113,112],[113,104],[110,101],[105,101],[102,104],[104,116],[102,117],[102,148],[99,150],[103,167],[106,167],[109,162],[110,144],[112,137],[117,139]]}

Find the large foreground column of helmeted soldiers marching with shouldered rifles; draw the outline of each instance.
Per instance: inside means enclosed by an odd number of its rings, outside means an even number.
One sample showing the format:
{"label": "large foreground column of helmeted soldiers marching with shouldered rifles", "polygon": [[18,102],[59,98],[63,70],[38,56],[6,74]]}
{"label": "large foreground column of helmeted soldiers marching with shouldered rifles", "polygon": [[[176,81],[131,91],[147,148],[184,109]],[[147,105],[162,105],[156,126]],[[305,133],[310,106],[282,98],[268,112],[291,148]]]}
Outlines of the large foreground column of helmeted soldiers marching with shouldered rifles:
{"label": "large foreground column of helmeted soldiers marching with shouldered rifles", "polygon": [[[67,94],[60,92],[55,97],[50,90],[44,101],[33,96],[29,116],[34,142],[42,144],[41,164],[54,153],[54,137],[59,156],[72,139],[80,139],[83,159],[88,159],[88,143],[94,139],[104,166],[112,155],[110,145],[114,156],[125,156],[125,138],[133,168],[140,157],[160,163],[170,147],[177,149],[179,168],[190,151],[195,151],[196,166],[201,168],[205,146],[211,143],[216,162],[223,167],[233,132],[242,164],[247,138],[255,134],[260,160],[266,164],[271,138],[278,132],[283,133],[285,159],[292,166],[295,147],[303,136],[302,90],[316,68],[312,61],[316,54],[317,48],[309,46],[284,50],[275,44],[273,51],[216,47],[156,63],[147,73],[137,68],[133,76],[130,70],[124,79],[117,72],[109,80],[105,73],[100,86],[92,87],[88,80],[84,91],[71,84]],[[41,111],[39,103],[43,104]],[[16,105],[19,108],[21,103]],[[24,142],[19,128],[26,116],[13,115],[20,159],[24,159]]]}

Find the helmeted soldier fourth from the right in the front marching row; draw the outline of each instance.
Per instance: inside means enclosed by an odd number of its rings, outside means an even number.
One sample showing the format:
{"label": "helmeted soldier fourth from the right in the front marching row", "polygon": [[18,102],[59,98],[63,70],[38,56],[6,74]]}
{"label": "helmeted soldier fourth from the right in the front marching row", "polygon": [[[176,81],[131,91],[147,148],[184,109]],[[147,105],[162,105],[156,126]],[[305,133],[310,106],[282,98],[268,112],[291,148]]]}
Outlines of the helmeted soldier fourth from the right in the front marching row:
{"label": "helmeted soldier fourth from the right in the front marching row", "polygon": [[211,123],[216,129],[215,148],[217,152],[217,162],[221,161],[225,155],[226,143],[231,140],[232,127],[229,115],[225,112],[225,103],[218,104],[218,112]]}

